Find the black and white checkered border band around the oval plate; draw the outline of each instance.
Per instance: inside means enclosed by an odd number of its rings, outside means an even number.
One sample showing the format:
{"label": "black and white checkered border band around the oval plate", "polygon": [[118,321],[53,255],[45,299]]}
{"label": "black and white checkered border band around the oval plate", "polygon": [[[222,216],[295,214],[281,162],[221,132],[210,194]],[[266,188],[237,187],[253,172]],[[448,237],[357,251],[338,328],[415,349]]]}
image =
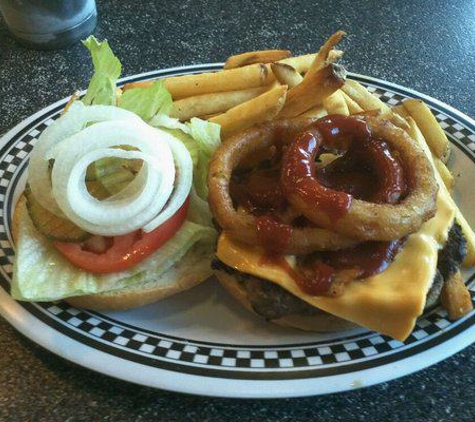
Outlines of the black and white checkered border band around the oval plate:
{"label": "black and white checkered border band around the oval plate", "polygon": [[[145,80],[218,68],[218,65],[178,68],[139,75],[128,80]],[[360,75],[351,77],[365,84],[389,105],[396,105],[407,97],[419,96],[413,91],[383,81]],[[432,106],[450,140],[475,162],[473,122],[448,106],[427,97],[424,99]],[[30,119],[28,125],[16,130],[8,143],[0,145],[0,286],[7,292],[14,255],[10,223],[19,181],[37,137],[59,116],[63,106],[64,102],[61,102],[49,107],[44,113],[37,114],[35,119]],[[471,290],[473,277],[468,280]],[[418,320],[414,332],[404,343],[377,333],[360,332],[331,341],[308,344],[242,346],[196,341],[147,331],[100,313],[71,307],[65,302],[19,303],[18,306],[62,335],[111,356],[181,374],[235,380],[298,380],[378,368],[446,342],[471,328],[475,322],[473,313],[455,323],[451,322],[443,309],[436,308]]]}

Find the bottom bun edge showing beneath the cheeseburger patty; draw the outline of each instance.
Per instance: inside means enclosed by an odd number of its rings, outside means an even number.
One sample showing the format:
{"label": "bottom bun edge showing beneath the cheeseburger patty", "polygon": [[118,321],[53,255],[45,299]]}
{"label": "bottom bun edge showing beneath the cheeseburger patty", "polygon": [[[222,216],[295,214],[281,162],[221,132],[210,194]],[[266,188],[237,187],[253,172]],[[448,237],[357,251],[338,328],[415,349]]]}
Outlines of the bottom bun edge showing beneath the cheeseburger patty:
{"label": "bottom bun edge showing beneath the cheeseburger patty", "polygon": [[[248,310],[254,312],[251,302],[247,296],[247,292],[236,278],[224,271],[214,272],[220,284],[231,293],[242,305]],[[255,313],[255,312],[254,312]],[[257,315],[257,314],[256,314]],[[316,315],[287,315],[282,318],[273,319],[271,322],[286,327],[299,328],[305,331],[317,331],[317,332],[331,332],[331,331],[343,331],[351,328],[358,327],[357,324],[346,321],[342,318],[338,318],[327,312],[320,311]]]}

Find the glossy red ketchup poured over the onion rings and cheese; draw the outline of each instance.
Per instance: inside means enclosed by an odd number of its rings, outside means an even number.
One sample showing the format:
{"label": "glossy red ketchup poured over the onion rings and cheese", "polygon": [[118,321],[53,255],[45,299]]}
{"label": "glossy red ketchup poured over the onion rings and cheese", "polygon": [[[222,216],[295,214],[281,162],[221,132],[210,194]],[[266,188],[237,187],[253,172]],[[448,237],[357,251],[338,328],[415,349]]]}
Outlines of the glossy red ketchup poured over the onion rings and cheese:
{"label": "glossy red ketchup poured over the onion rings and cheese", "polygon": [[[317,168],[315,160],[325,151],[344,154]],[[285,152],[280,180],[279,170],[256,170],[240,186],[240,191],[231,190],[238,202],[257,215],[258,242],[268,252],[262,263],[279,265],[309,295],[328,294],[336,274],[344,269],[355,269],[356,278],[384,271],[404,244],[405,239],[366,242],[321,252],[310,271],[293,269],[282,256],[293,228],[272,213],[286,207],[288,195],[299,195],[333,221],[348,212],[353,198],[396,204],[404,197],[407,185],[399,159],[384,140],[371,135],[362,118],[333,115],[317,120]]]}

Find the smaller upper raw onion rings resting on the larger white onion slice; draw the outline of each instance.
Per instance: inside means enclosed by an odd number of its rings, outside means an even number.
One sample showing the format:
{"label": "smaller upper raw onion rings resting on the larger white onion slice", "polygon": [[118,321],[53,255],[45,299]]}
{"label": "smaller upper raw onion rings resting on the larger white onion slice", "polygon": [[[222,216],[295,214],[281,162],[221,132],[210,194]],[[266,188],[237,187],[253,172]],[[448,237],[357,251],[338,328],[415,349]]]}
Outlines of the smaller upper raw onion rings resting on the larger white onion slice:
{"label": "smaller upper raw onion rings resting on the larger white onion slice", "polygon": [[[113,148],[124,144],[139,151]],[[144,165],[123,191],[99,201],[87,190],[86,169],[110,156],[139,158]],[[55,160],[51,180],[60,209],[93,234],[117,236],[139,228],[152,231],[174,214],[191,188],[192,161],[186,148],[170,134],[143,122],[96,123],[63,140],[46,158]],[[175,163],[180,170],[176,183]]]}

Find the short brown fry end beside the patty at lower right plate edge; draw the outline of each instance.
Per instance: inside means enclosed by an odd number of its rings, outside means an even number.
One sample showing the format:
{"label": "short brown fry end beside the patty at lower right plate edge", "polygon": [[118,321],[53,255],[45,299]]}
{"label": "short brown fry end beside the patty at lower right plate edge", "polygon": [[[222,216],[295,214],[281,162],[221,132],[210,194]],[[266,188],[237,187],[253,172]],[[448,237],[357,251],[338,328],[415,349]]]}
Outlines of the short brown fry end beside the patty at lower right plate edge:
{"label": "short brown fry end beside the patty at lower right plate edge", "polygon": [[440,302],[449,314],[449,319],[458,319],[473,309],[472,298],[463,282],[460,271],[446,280],[440,293]]}

